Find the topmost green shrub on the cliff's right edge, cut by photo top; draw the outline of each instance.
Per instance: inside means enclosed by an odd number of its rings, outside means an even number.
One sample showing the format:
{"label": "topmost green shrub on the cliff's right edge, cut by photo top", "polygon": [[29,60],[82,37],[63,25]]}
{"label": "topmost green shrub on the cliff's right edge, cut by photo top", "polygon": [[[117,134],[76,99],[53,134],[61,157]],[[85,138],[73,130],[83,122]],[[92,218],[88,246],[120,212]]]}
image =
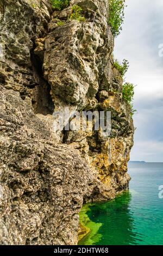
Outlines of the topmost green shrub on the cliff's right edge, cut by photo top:
{"label": "topmost green shrub on the cliff's right edge, cut by photo top", "polygon": [[109,0],[109,25],[114,36],[120,34],[124,21],[125,0]]}

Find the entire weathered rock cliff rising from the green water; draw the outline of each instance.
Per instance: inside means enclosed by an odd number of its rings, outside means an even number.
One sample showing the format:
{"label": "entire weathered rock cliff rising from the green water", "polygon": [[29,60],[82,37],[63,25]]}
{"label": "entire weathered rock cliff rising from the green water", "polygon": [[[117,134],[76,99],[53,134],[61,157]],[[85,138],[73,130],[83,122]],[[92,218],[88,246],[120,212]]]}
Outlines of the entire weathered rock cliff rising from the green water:
{"label": "entire weathered rock cliff rising from the green water", "polygon": [[[70,20],[72,6],[84,22]],[[0,243],[74,245],[83,201],[129,184],[133,119],[114,68],[108,0],[0,0]],[[53,129],[54,111],[110,111],[111,134]]]}

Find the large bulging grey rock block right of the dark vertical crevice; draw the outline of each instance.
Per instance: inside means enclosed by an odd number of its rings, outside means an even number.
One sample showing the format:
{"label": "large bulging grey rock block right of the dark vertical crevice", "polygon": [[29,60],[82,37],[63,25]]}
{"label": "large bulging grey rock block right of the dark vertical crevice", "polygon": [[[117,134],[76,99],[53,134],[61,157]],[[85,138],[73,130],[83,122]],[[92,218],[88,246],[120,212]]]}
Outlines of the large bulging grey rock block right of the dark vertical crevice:
{"label": "large bulging grey rock block right of the dark vertical crevice", "polygon": [[107,22],[108,6],[103,1],[71,1],[73,4],[81,5],[91,16],[86,22],[66,22],[46,36],[43,70],[54,101],[59,97],[84,108],[87,98],[93,99],[98,92],[113,37]]}

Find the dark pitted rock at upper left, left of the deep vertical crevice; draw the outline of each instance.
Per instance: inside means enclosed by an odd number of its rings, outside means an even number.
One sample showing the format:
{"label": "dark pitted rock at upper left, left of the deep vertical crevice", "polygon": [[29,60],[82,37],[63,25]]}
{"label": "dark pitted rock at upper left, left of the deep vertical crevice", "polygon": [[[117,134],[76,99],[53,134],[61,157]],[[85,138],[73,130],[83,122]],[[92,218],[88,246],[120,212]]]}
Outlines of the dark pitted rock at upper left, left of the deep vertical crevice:
{"label": "dark pitted rock at upper left, left of the deep vertical crevice", "polygon": [[48,0],[0,0],[0,82],[30,96],[35,111],[53,113],[50,87],[33,54],[35,39],[47,34],[52,8]]}

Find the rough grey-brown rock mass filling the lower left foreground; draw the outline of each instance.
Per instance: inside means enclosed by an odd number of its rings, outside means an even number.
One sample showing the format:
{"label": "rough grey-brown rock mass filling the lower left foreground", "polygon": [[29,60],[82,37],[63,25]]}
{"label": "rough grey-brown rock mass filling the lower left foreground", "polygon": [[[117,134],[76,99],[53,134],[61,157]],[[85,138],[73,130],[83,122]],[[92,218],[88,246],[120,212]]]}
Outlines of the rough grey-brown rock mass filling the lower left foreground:
{"label": "rough grey-brown rock mass filling the lower left foreground", "polygon": [[0,95],[1,245],[77,244],[89,169],[18,93]]}

